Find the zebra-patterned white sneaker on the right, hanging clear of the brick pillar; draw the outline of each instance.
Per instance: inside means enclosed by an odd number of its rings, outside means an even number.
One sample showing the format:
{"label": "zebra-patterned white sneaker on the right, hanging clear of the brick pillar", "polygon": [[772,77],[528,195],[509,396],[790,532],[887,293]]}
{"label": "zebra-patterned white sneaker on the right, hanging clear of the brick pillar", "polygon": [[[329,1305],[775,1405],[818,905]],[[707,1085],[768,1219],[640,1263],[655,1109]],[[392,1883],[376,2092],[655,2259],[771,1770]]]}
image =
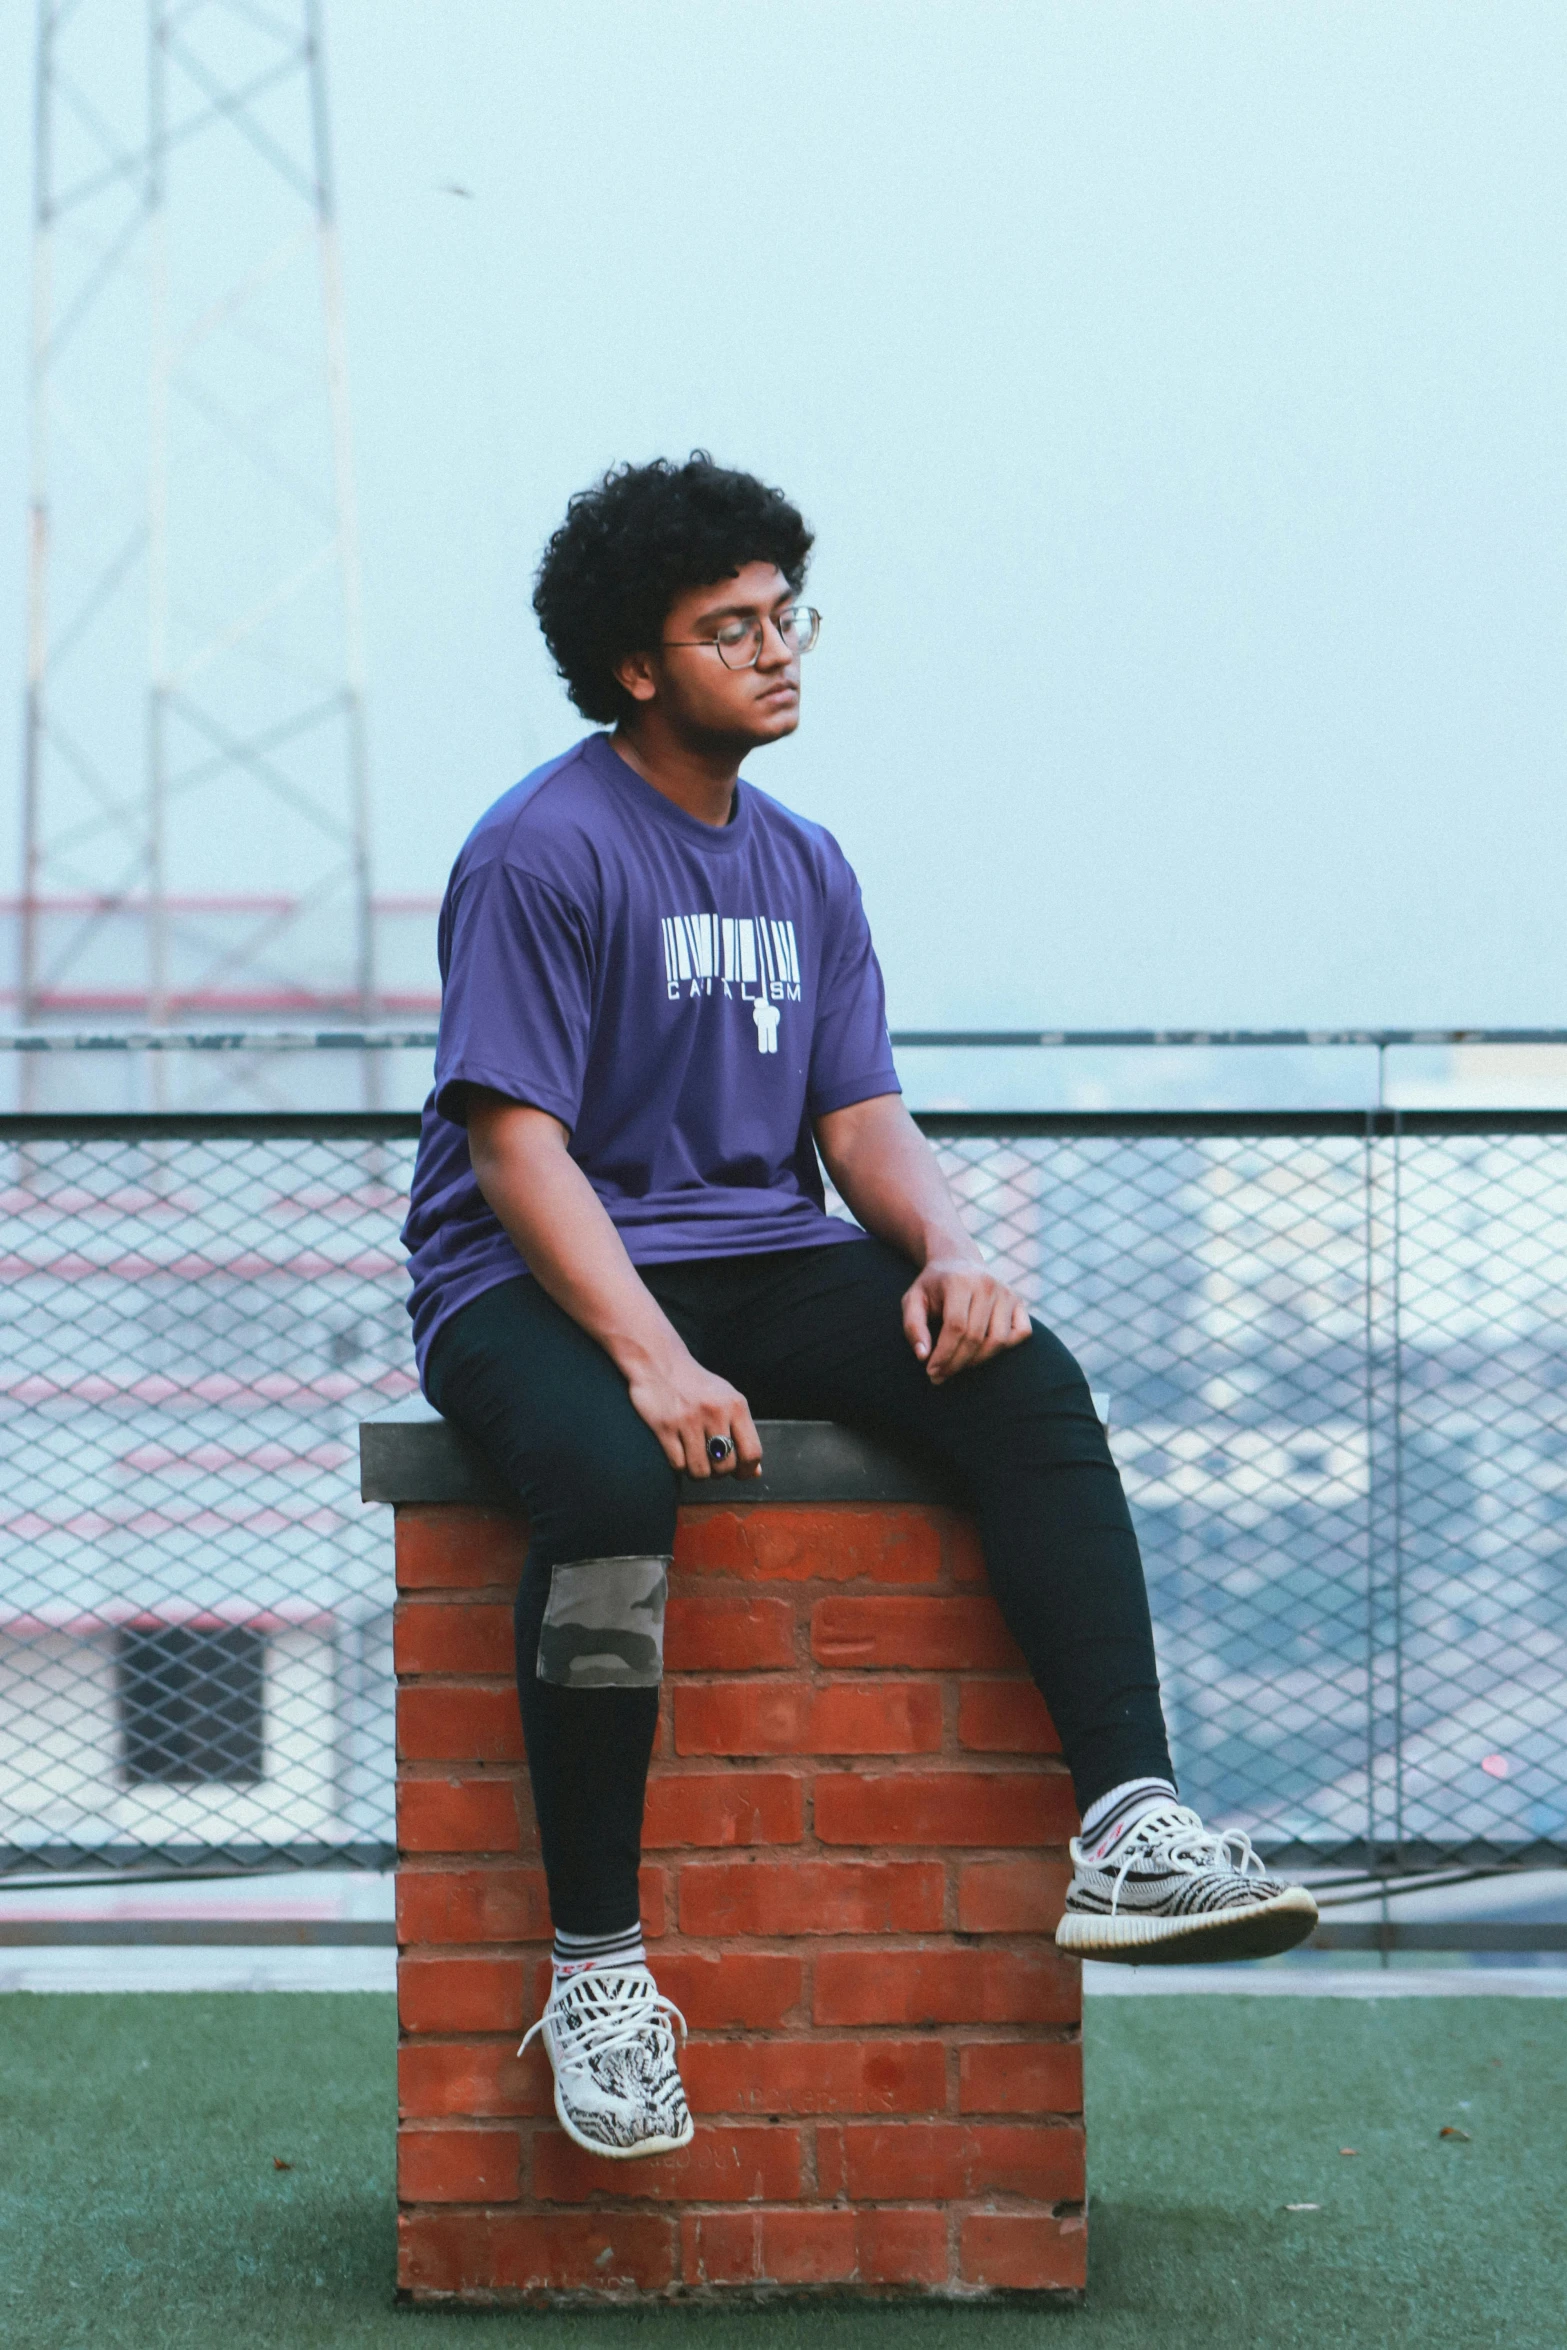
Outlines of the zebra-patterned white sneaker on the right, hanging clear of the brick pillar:
{"label": "zebra-patterned white sneaker on the right, hanging clear of the brick pillar", "polygon": [[1273,1958],[1316,1925],[1304,1885],[1264,1878],[1250,1835],[1215,1835],[1184,1802],[1146,1810],[1102,1861],[1076,1835],[1067,1849],[1074,1873],[1055,1946],[1076,1958],[1125,1967]]}

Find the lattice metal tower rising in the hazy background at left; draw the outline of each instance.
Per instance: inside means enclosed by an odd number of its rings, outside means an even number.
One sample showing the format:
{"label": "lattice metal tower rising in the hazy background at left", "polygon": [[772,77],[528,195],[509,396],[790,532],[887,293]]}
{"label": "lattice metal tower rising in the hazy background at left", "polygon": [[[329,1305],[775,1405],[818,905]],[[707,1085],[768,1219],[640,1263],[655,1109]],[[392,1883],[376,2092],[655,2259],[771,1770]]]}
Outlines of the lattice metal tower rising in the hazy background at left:
{"label": "lattice metal tower rising in the hazy background at left", "polygon": [[40,0],[21,1020],[376,1001],[317,0]]}

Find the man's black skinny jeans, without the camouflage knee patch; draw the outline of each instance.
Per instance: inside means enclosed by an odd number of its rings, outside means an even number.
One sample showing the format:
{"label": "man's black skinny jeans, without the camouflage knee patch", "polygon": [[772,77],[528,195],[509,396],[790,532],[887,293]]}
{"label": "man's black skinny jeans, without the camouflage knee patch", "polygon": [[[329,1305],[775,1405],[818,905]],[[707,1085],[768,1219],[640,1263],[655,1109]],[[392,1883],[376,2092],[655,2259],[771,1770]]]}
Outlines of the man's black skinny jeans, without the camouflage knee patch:
{"label": "man's black skinny jeans, without the camouflage knee patch", "polygon": [[[1022,1347],[933,1386],[902,1330],[914,1269],[881,1241],[651,1264],[641,1278],[756,1419],[839,1419],[947,1469],[1083,1810],[1123,1779],[1172,1777],[1121,1476],[1050,1330],[1034,1323]],[[529,1513],[517,1694],[550,1908],[569,1934],[616,1932],[637,1918],[658,1690],[545,1683],[538,1636],[552,1567],[674,1546],[674,1471],[608,1354],[531,1278],[442,1325],[425,1391]]]}

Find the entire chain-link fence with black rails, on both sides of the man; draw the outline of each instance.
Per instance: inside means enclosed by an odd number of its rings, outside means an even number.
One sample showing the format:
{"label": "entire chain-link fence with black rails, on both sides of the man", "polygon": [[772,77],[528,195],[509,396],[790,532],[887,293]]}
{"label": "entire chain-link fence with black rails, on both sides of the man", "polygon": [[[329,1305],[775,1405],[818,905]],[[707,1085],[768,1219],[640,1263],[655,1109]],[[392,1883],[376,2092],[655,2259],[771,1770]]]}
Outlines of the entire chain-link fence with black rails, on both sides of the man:
{"label": "entire chain-link fence with black rails, on both sides of the man", "polygon": [[[1567,1859],[1567,1116],[923,1119],[1107,1401],[1177,1767]],[[5,1119],[0,1861],[383,1864],[409,1116]]]}

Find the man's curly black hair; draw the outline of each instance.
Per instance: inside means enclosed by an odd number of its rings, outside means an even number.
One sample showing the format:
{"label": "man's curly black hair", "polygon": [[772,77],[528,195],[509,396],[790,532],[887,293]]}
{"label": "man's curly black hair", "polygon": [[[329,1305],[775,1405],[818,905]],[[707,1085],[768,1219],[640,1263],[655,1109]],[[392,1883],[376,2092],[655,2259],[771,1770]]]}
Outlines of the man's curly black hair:
{"label": "man's curly black hair", "polygon": [[616,663],[658,644],[677,595],[759,562],[799,595],[808,557],[811,531],[782,489],[693,449],[684,465],[611,465],[576,494],[543,552],[533,611],[566,693],[608,726],[637,707]]}

